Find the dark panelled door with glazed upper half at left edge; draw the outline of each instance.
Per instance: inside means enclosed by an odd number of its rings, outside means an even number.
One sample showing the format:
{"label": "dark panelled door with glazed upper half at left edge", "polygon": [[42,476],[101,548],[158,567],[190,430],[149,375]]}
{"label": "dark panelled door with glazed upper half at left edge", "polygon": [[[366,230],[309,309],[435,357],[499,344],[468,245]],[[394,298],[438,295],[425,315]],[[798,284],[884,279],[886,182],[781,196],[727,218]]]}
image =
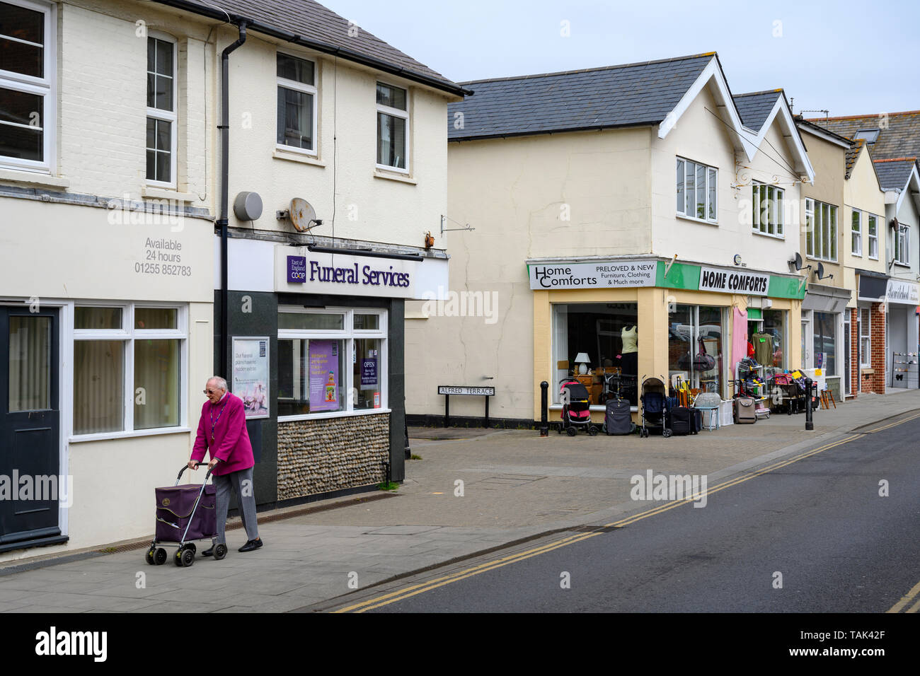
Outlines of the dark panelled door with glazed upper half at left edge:
{"label": "dark panelled door with glazed upper half at left edge", "polygon": [[0,306],[0,552],[63,539],[59,319]]}

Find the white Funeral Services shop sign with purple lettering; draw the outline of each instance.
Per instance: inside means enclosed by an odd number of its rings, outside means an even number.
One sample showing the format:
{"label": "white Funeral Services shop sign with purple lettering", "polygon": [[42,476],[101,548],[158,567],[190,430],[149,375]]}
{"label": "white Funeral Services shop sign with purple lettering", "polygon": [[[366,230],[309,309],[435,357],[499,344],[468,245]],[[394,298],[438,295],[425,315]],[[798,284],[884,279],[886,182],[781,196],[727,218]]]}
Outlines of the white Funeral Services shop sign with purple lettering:
{"label": "white Funeral Services shop sign with purple lettering", "polygon": [[[297,251],[295,249],[295,251]],[[276,291],[414,298],[420,261],[276,249]],[[300,249],[298,253],[304,252]]]}

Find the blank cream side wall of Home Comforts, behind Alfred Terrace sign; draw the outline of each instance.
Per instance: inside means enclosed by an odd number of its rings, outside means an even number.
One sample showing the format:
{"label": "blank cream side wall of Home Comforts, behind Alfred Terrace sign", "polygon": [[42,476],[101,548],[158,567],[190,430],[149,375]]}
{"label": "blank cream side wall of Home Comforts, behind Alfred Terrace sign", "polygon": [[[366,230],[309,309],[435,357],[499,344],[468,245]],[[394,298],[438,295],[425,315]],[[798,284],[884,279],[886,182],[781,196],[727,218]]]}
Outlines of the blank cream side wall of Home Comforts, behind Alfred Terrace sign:
{"label": "blank cream side wall of Home Comforts, behind Alfred Terrace sign", "polygon": [[[406,322],[409,414],[442,415],[439,384],[494,385],[490,416],[532,419],[535,292],[524,261],[647,253],[649,139],[644,128],[450,143],[447,215],[476,228],[442,240],[450,290],[494,293],[497,307],[464,317],[407,304],[408,317],[431,314]],[[452,397],[451,415],[481,417],[482,397]]]}

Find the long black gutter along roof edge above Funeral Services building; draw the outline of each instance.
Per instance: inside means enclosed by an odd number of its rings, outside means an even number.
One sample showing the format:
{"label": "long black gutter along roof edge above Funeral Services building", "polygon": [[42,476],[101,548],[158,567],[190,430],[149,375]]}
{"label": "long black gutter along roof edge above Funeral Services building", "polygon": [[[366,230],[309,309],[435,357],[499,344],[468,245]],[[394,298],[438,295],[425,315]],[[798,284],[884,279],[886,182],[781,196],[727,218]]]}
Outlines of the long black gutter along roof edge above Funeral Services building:
{"label": "long black gutter along roof edge above Funeral Services building", "polygon": [[316,52],[340,56],[341,58],[353,63],[361,63],[362,65],[370,66],[371,68],[383,71],[385,73],[398,75],[399,77],[404,77],[407,80],[418,82],[421,85],[430,86],[434,89],[439,89],[441,91],[454,94],[454,96],[468,97],[472,96],[473,94],[473,90],[471,89],[466,89],[465,87],[454,85],[453,83],[448,83],[444,80],[438,80],[437,78],[431,77],[431,75],[417,73],[411,69],[404,68],[403,66],[381,61],[380,59],[375,59],[373,56],[365,56],[359,52],[352,52],[349,49],[336,47],[335,45],[331,45],[326,42],[310,40],[309,38],[305,38],[295,33],[290,33],[286,30],[276,29],[256,19],[241,17],[236,14],[228,14],[227,12],[224,12],[224,10],[217,9],[216,7],[201,6],[197,3],[188,2],[188,0],[154,0],[154,2],[158,5],[166,5],[173,7],[174,9],[181,9],[182,11],[190,12],[191,14],[197,14],[201,17],[213,18],[220,21],[228,21],[229,23],[235,25],[239,23],[246,23],[249,29],[256,30],[263,35],[270,35],[272,38],[284,40],[285,42],[293,42],[294,44],[300,45],[301,47],[306,47],[307,49],[311,49]]}

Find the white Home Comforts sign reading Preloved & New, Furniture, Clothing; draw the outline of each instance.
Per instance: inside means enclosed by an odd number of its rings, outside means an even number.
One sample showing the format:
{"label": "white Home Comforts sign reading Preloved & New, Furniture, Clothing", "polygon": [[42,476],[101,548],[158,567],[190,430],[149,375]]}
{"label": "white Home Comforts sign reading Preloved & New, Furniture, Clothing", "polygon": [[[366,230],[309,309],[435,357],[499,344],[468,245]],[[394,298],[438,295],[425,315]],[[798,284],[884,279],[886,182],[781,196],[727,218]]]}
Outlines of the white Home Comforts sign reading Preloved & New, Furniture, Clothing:
{"label": "white Home Comforts sign reading Preloved & New, Furniture, Clothing", "polygon": [[531,263],[531,289],[607,289],[654,286],[656,260],[604,260],[596,263]]}

